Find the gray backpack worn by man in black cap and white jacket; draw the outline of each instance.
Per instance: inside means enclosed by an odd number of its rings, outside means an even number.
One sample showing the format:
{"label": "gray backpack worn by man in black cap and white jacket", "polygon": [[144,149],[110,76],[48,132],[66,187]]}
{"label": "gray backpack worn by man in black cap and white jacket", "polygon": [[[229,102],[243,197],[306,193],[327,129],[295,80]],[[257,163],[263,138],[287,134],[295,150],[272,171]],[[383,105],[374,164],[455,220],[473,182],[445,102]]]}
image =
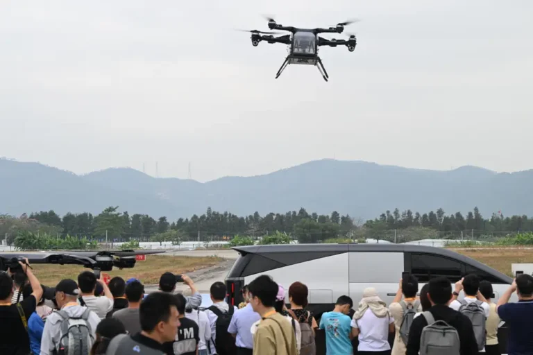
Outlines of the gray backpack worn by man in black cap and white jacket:
{"label": "gray backpack worn by man in black cap and white jacket", "polygon": [[59,355],[89,355],[94,338],[88,322],[90,309],[81,317],[72,317],[65,311],[57,311],[60,320],[60,336],[56,352]]}

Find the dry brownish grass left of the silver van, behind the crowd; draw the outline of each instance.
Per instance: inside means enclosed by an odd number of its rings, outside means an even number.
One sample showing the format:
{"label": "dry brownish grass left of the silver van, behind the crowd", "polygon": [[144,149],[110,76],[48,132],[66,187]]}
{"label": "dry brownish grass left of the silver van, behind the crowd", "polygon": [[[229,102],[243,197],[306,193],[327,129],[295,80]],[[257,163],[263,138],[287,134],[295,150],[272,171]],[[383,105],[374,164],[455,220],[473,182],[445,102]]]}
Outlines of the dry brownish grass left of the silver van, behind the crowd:
{"label": "dry brownish grass left of the silver van, behind the crowd", "polygon": [[[158,257],[147,255],[146,261],[137,261],[135,268],[122,269],[113,268],[106,271],[110,277],[120,276],[123,279],[137,277],[144,284],[157,284],[159,277],[165,271],[181,274],[215,266],[223,259],[217,257]],[[83,270],[90,270],[77,265],[34,265],[35,275],[40,282],[46,286],[55,286],[61,279],[78,278],[78,274]]]}

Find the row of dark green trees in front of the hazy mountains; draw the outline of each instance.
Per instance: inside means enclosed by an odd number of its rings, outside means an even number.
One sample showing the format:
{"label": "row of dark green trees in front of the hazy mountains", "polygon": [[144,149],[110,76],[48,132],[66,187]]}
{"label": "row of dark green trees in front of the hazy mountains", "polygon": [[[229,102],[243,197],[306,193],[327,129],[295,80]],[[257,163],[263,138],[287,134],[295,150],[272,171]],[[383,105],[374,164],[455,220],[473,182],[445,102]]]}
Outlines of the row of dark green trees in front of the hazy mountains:
{"label": "row of dark green trees in front of the hazy mountains", "polygon": [[[93,216],[88,212],[67,213],[59,216],[55,211],[33,212],[20,218],[0,216],[0,236],[15,239],[18,231],[35,234],[46,233],[57,236],[87,236],[90,239],[109,241],[160,240],[183,241],[187,239],[208,240],[231,239],[244,236],[264,236],[280,232],[298,239],[301,243],[316,243],[337,237],[359,239],[364,237],[382,238],[391,230],[416,231],[416,236],[428,238],[457,235],[459,232],[475,231],[476,234],[497,232],[520,232],[533,230],[533,218],[527,216],[503,216],[492,214],[483,218],[475,207],[466,216],[461,212],[446,214],[443,209],[420,214],[407,209],[400,212],[385,211],[373,220],[362,223],[348,214],[342,216],[337,211],[331,214],[309,213],[305,208],[287,211],[285,214],[269,213],[261,216],[257,211],[249,216],[237,216],[228,211],[212,211],[208,207],[205,214],[194,214],[190,218],[171,220],[167,216],[157,219],[147,214],[133,214],[119,211],[119,207],[108,207]],[[407,233],[407,232],[405,232]],[[390,239],[390,237],[387,237]]]}

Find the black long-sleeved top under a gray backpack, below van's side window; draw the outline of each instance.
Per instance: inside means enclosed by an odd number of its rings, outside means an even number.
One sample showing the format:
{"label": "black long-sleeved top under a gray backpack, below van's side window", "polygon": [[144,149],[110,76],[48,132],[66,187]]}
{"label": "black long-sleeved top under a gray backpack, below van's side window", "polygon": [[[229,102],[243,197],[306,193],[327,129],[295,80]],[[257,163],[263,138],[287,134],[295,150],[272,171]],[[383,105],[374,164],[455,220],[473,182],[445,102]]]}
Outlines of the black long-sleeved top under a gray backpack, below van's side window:
{"label": "black long-sleeved top under a gray backpack, below van's side window", "polygon": [[[459,341],[461,342],[461,355],[479,354],[477,342],[475,341],[474,328],[472,322],[466,317],[448,306],[436,304],[430,308],[430,312],[435,320],[443,320],[450,326],[457,329]],[[405,355],[418,355],[420,351],[420,338],[422,329],[428,325],[423,315],[414,318],[411,329],[409,329],[409,340],[407,340],[407,352]]]}

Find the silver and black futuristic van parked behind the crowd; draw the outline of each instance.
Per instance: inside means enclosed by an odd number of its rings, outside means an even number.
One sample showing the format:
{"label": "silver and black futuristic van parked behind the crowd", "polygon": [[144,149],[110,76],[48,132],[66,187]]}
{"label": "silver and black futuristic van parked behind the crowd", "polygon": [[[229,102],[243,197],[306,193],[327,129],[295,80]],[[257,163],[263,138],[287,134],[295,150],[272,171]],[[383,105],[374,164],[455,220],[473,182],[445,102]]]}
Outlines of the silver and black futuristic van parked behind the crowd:
{"label": "silver and black futuristic van parked behind the crowd", "polygon": [[[296,281],[306,284],[310,308],[317,316],[331,311],[341,295],[349,295],[357,304],[366,287],[374,287],[389,304],[398,291],[403,271],[415,275],[420,288],[434,277],[446,276],[457,282],[474,273],[493,284],[496,301],[513,281],[462,254],[419,245],[293,244],[233,249],[240,255],[226,277],[228,302],[239,304],[242,286],[259,275],[270,275],[285,288]],[[287,302],[288,297],[287,293]]]}

